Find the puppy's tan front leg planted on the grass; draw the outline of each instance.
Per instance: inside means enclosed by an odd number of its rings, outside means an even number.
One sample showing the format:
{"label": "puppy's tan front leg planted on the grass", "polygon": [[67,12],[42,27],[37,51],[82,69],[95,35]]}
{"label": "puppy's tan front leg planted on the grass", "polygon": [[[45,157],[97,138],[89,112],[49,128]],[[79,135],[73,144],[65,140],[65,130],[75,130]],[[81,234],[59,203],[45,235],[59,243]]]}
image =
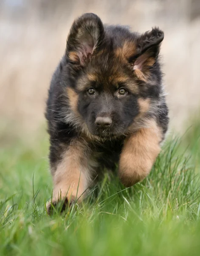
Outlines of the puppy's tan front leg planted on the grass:
{"label": "puppy's tan front leg planted on the grass", "polygon": [[52,202],[47,204],[48,213],[51,213],[51,204],[56,205],[60,200],[64,201],[64,207],[77,199],[82,201],[91,183],[89,158],[87,145],[80,141],[73,141],[62,153],[62,159],[52,170],[54,190]]}

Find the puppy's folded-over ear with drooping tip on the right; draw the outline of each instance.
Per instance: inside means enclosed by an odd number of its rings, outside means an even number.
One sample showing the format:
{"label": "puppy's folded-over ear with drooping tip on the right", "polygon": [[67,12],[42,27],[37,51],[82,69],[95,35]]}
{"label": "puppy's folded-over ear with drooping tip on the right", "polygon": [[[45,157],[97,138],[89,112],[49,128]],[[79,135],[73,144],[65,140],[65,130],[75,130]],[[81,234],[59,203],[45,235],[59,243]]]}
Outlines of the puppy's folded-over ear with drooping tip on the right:
{"label": "puppy's folded-over ear with drooping tip on the right", "polygon": [[163,38],[163,31],[159,28],[153,28],[137,39],[138,53],[130,61],[138,79],[146,81],[149,74],[149,67],[153,66],[158,58]]}

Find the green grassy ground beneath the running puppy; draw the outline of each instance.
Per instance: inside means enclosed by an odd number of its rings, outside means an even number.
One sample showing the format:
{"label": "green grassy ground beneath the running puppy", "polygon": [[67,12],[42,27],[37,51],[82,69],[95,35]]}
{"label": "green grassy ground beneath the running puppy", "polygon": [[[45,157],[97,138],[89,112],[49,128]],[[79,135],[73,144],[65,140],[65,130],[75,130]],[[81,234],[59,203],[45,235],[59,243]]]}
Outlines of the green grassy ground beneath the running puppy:
{"label": "green grassy ground beneath the running puppy", "polygon": [[0,256],[200,255],[199,128],[169,140],[142,183],[105,175],[83,206],[51,217],[48,138],[1,149]]}

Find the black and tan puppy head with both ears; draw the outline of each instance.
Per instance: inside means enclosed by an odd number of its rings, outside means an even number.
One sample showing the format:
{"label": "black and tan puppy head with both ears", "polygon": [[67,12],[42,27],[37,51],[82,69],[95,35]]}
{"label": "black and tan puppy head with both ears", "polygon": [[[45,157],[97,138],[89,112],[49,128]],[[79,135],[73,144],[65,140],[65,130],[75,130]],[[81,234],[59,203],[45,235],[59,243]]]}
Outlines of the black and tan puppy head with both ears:
{"label": "black and tan puppy head with both ears", "polygon": [[162,41],[158,28],[139,35],[125,27],[104,26],[91,13],[75,20],[65,54],[74,119],[82,120],[93,135],[112,137],[144,118],[161,93]]}

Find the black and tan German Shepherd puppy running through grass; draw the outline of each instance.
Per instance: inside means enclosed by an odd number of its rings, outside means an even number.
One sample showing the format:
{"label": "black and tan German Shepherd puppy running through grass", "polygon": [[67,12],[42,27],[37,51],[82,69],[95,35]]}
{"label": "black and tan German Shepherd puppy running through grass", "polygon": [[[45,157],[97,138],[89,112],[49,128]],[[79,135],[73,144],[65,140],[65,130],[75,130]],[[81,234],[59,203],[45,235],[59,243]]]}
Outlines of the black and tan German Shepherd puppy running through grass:
{"label": "black and tan German Shepherd puppy running through grass", "polygon": [[93,13],[73,22],[46,108],[53,205],[82,201],[94,177],[116,164],[127,187],[149,174],[169,122],[163,38],[159,28],[140,35]]}

